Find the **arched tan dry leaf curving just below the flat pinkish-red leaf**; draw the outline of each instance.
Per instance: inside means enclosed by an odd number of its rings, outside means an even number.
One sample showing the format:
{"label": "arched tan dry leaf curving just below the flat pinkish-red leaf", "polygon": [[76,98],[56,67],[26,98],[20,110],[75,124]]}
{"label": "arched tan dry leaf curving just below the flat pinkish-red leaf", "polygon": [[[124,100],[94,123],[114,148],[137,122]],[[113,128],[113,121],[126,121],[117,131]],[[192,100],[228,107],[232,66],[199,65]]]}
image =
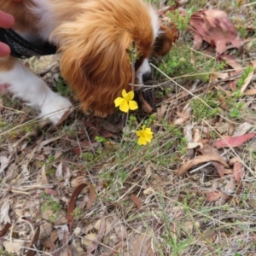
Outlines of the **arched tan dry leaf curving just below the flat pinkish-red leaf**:
{"label": "arched tan dry leaf curving just below the flat pinkish-red leaf", "polygon": [[198,166],[202,163],[217,161],[222,165],[229,167],[228,164],[224,161],[224,159],[217,154],[205,154],[195,157],[195,159],[188,160],[178,169],[177,176],[181,176],[187,173],[192,167]]}

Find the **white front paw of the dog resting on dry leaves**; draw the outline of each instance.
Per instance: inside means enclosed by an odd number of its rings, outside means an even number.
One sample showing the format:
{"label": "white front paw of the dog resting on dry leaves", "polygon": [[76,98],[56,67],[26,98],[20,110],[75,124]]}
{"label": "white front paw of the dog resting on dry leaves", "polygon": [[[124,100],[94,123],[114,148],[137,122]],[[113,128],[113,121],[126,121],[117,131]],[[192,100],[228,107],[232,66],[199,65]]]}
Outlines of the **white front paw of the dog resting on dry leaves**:
{"label": "white front paw of the dog resting on dry leaves", "polygon": [[41,108],[40,117],[49,119],[54,125],[58,125],[63,117],[66,119],[68,114],[72,112],[71,107],[72,103],[67,98],[51,92]]}

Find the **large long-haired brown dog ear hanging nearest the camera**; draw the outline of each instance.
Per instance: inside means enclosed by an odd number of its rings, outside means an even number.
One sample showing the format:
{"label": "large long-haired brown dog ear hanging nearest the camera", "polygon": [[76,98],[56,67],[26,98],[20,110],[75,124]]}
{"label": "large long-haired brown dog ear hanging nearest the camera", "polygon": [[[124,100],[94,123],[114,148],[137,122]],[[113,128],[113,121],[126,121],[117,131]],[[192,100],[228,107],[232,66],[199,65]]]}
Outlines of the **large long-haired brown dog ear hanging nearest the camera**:
{"label": "large long-haired brown dog ear hanging nearest the camera", "polygon": [[[75,24],[74,24],[75,25]],[[84,26],[83,26],[84,27]],[[129,32],[113,35],[104,30],[80,29],[77,24],[67,38],[61,38],[61,74],[81,102],[84,113],[106,117],[114,111],[114,99],[121,91],[131,90],[131,64],[127,50]],[[61,29],[56,34],[60,37]],[[103,32],[102,32],[103,31]]]}

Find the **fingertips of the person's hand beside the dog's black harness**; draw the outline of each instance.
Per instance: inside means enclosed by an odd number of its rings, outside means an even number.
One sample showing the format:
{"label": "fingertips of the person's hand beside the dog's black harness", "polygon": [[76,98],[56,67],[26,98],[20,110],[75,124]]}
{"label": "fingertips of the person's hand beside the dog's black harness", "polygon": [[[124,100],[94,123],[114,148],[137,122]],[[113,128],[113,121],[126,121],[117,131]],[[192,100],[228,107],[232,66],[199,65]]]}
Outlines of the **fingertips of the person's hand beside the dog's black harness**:
{"label": "fingertips of the person's hand beside the dog's black harness", "polygon": [[[22,0],[13,0],[14,2],[21,2]],[[15,25],[15,18],[12,15],[6,14],[0,10],[0,26],[3,28],[11,28]],[[10,54],[10,49],[7,44],[0,42],[0,57]]]}

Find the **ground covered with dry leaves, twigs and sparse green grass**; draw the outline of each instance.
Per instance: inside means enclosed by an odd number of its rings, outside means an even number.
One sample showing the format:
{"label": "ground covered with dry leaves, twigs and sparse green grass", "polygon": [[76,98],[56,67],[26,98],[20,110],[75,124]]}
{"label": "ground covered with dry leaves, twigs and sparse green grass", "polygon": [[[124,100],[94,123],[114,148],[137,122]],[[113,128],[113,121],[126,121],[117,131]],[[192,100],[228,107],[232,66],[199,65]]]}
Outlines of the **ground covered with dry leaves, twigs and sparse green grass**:
{"label": "ground covered with dry leaves, twigs and sparse green grass", "polygon": [[[152,60],[153,113],[84,116],[55,56],[25,62],[77,107],[61,125],[1,97],[0,255],[256,254],[256,3],[151,2],[179,29]],[[214,44],[213,26],[211,44],[195,43],[202,15],[228,26],[227,44]],[[143,125],[154,132],[145,146]]]}

